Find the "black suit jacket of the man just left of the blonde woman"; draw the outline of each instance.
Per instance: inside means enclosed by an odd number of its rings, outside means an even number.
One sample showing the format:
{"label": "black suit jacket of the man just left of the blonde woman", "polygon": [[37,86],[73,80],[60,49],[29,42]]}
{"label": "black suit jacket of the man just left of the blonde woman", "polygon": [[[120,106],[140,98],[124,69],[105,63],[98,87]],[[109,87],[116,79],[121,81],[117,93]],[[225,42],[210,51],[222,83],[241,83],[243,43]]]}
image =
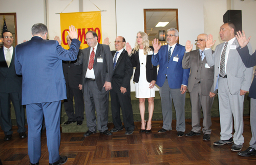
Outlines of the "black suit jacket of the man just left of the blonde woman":
{"label": "black suit jacket of the man just left of the blonde woman", "polygon": [[[114,58],[116,51],[111,51]],[[120,88],[126,88],[130,91],[130,80],[133,75],[133,65],[129,59],[128,53],[125,49],[120,54],[117,60],[115,70],[113,72],[112,87],[116,93],[120,92]]]}

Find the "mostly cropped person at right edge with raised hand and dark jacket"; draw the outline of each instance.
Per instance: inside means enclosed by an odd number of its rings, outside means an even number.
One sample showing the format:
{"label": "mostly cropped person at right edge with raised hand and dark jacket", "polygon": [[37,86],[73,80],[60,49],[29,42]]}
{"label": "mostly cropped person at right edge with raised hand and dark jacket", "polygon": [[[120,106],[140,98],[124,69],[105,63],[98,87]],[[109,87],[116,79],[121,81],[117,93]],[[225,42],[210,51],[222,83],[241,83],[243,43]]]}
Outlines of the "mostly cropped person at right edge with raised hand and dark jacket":
{"label": "mostly cropped person at right edge with raised hand and dark jacket", "polygon": [[[250,41],[249,37],[246,39],[245,33],[243,31],[243,34],[239,31],[237,32],[237,40],[239,43],[239,47],[237,48],[239,55],[244,63],[244,65],[249,67],[254,67],[256,65],[256,52],[253,54],[249,54],[249,49],[247,44]],[[249,89],[249,97],[251,98],[251,109],[250,109],[250,123],[251,123],[251,141],[250,141],[250,147],[245,150],[238,152],[238,155],[240,156],[251,156],[256,155],[256,70],[253,75],[253,80],[251,87]]]}

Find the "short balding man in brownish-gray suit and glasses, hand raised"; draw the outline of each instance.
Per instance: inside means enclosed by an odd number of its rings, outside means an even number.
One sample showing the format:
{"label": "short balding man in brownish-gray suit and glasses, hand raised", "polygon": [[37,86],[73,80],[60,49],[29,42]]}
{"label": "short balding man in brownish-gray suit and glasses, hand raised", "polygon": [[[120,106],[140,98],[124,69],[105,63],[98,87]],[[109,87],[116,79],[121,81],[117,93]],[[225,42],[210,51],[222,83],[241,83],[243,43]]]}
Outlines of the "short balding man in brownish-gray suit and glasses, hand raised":
{"label": "short balding man in brownish-gray suit and glasses, hand raised", "polygon": [[[211,116],[210,109],[214,103],[214,66],[209,67],[204,56],[206,47],[206,34],[200,34],[197,37],[197,47],[192,50],[193,45],[190,41],[186,42],[186,52],[182,60],[183,69],[190,68],[187,89],[191,101],[192,130],[185,133],[185,136],[194,136],[201,134],[200,118],[201,107],[203,111],[203,140],[210,140]],[[214,52],[214,51],[212,51]]]}

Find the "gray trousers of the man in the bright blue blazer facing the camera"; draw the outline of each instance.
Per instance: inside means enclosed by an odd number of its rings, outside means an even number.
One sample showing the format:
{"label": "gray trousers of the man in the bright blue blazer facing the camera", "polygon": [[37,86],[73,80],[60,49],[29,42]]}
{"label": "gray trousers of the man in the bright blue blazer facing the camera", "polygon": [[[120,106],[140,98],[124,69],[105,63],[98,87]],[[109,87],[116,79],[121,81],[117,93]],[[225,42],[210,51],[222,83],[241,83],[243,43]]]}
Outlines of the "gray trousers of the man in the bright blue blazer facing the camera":
{"label": "gray trousers of the man in the bright blue blazer facing the camera", "polygon": [[[179,89],[170,89],[168,85],[167,78],[164,81],[162,87],[159,90],[162,104],[162,114],[163,114],[163,129],[172,130],[172,119],[173,119],[173,109],[172,103],[174,101],[174,107],[176,111],[176,130],[184,132],[185,131],[185,98],[186,93],[183,95]],[[172,101],[173,100],[173,101]]]}

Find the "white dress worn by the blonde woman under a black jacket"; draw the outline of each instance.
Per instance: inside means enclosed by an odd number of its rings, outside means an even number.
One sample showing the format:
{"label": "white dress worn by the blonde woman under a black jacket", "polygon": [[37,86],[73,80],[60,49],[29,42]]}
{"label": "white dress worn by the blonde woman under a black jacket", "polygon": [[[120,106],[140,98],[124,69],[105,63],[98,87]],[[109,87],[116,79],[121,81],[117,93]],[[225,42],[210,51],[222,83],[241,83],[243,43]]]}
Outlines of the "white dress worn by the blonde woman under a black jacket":
{"label": "white dress worn by the blonde woman under a black jacket", "polygon": [[140,60],[140,78],[139,82],[135,82],[136,98],[150,98],[155,97],[155,87],[150,89],[150,82],[146,80],[146,55],[143,49],[139,49]]}

